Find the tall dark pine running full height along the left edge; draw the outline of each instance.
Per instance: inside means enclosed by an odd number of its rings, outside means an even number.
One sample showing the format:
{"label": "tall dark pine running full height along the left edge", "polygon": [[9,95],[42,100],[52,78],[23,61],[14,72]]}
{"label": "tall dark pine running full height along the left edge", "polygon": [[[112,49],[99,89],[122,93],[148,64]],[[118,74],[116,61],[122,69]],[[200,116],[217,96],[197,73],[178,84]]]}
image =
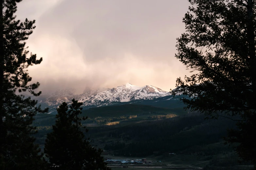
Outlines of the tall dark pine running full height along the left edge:
{"label": "tall dark pine running full height along the left edge", "polygon": [[[32,34],[35,21],[15,20],[16,4],[22,0],[0,0],[0,169],[43,169],[42,154],[30,135],[35,133],[31,126],[37,112],[37,101],[25,98],[20,92],[34,92],[39,83],[31,81],[27,68],[40,64],[42,58],[30,54],[25,40]],[[18,93],[18,94],[17,94]]]}

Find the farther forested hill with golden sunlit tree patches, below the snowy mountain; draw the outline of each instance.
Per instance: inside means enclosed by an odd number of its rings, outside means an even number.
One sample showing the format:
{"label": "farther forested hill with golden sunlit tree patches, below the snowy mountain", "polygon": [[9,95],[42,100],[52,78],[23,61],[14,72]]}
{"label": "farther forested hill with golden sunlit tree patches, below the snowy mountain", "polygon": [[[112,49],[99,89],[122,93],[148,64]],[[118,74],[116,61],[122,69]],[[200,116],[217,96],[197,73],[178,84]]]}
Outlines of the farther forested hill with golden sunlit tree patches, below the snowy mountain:
{"label": "farther forested hill with golden sunlit tree patches, below the snowy mountain", "polygon": [[[109,122],[124,121],[135,122],[143,120],[159,120],[177,116],[180,108],[169,109],[147,105],[121,105],[121,106],[106,106],[95,107],[88,110],[82,110],[81,116],[87,116],[88,119],[82,121],[83,124],[93,123],[95,125],[105,125]],[[174,112],[174,113],[173,113]],[[181,114],[184,114],[183,112]],[[38,133],[35,134],[37,142],[44,144],[45,136],[51,132],[52,125],[55,123],[55,115],[37,114],[33,125],[37,127]],[[91,127],[90,127],[91,130]]]}

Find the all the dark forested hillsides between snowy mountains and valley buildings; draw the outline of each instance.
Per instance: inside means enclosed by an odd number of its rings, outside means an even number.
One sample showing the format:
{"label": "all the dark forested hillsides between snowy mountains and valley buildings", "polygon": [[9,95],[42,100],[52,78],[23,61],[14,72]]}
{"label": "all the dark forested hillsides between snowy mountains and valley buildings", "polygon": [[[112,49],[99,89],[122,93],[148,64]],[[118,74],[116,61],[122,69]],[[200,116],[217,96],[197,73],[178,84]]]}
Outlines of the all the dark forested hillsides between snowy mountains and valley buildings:
{"label": "all the dark forested hillsides between snowy mountains and valley buildings", "polygon": [[[179,108],[181,109],[181,108]],[[177,108],[176,112],[179,110]],[[234,145],[225,145],[227,129],[235,129],[235,122],[227,118],[206,120],[204,115],[172,113],[174,109],[147,105],[106,106],[83,110],[83,121],[89,131],[84,133],[93,146],[103,153],[125,157],[155,157],[171,159],[169,153],[197,155],[197,161],[209,161],[215,166],[250,164],[238,163]],[[175,112],[175,113],[176,113]],[[43,145],[47,133],[52,132],[55,116],[36,115],[34,125],[37,143]],[[107,125],[109,122],[119,122]]]}

